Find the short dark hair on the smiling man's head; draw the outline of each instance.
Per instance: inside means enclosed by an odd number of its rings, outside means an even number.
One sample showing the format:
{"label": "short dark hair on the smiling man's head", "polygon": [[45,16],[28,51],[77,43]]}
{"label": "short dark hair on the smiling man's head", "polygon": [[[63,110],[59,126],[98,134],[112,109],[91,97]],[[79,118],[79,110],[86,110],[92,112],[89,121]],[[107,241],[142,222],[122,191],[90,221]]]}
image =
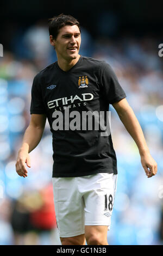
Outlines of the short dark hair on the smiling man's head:
{"label": "short dark hair on the smiling man's head", "polygon": [[52,19],[49,19],[49,35],[52,35],[53,39],[57,39],[59,29],[67,25],[77,25],[80,31],[79,22],[73,16],[60,14]]}

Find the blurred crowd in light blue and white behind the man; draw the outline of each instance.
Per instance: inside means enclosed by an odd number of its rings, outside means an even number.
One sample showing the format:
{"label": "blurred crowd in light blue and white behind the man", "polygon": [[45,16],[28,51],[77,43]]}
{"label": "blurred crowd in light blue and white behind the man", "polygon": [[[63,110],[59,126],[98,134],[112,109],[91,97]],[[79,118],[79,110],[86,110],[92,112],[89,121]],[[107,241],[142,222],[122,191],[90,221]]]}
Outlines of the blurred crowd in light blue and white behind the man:
{"label": "blurred crowd in light blue and white behind the man", "polygon": [[[30,153],[28,178],[15,162],[30,120],[34,76],[57,60],[47,26],[37,22],[13,35],[10,51],[0,57],[0,245],[59,245],[52,190],[52,135],[49,124]],[[114,69],[143,129],[158,174],[147,179],[135,142],[114,108],[111,134],[118,180],[110,245],[163,244],[163,58],[151,36],[91,38],[82,28],[80,54],[105,60]]]}

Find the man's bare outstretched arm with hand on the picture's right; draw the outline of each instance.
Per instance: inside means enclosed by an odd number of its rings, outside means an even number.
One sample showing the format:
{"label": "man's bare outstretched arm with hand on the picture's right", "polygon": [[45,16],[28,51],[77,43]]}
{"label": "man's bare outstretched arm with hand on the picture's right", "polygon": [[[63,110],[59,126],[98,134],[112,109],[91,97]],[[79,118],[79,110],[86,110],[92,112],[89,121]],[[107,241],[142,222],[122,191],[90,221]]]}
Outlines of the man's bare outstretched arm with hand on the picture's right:
{"label": "man's bare outstretched arm with hand on the picture's right", "polygon": [[133,137],[139,149],[142,167],[145,169],[148,178],[150,178],[156,174],[157,164],[149,152],[141,126],[135,117],[133,109],[129,106],[126,99],[118,101],[112,104],[112,106],[116,109],[116,112],[126,127],[126,130],[129,132],[131,137]]}

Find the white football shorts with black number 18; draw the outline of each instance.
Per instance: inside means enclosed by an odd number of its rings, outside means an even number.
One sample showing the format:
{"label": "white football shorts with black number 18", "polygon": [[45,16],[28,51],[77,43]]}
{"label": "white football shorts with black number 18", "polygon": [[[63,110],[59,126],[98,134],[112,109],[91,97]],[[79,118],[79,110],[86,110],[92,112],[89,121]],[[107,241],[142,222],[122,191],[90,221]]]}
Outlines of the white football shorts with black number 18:
{"label": "white football shorts with black number 18", "polygon": [[60,237],[84,234],[85,225],[107,225],[110,229],[117,174],[97,173],[52,181]]}

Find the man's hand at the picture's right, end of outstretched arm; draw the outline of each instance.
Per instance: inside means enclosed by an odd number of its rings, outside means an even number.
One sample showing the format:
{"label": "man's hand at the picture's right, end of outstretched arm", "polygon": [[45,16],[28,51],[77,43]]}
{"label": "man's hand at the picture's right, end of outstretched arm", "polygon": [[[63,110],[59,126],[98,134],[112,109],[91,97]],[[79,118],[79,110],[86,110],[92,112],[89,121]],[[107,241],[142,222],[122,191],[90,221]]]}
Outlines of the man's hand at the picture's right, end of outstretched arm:
{"label": "man's hand at the picture's right, end of outstretched arm", "polygon": [[141,155],[141,164],[148,178],[154,176],[158,171],[157,163],[155,162],[150,153]]}

